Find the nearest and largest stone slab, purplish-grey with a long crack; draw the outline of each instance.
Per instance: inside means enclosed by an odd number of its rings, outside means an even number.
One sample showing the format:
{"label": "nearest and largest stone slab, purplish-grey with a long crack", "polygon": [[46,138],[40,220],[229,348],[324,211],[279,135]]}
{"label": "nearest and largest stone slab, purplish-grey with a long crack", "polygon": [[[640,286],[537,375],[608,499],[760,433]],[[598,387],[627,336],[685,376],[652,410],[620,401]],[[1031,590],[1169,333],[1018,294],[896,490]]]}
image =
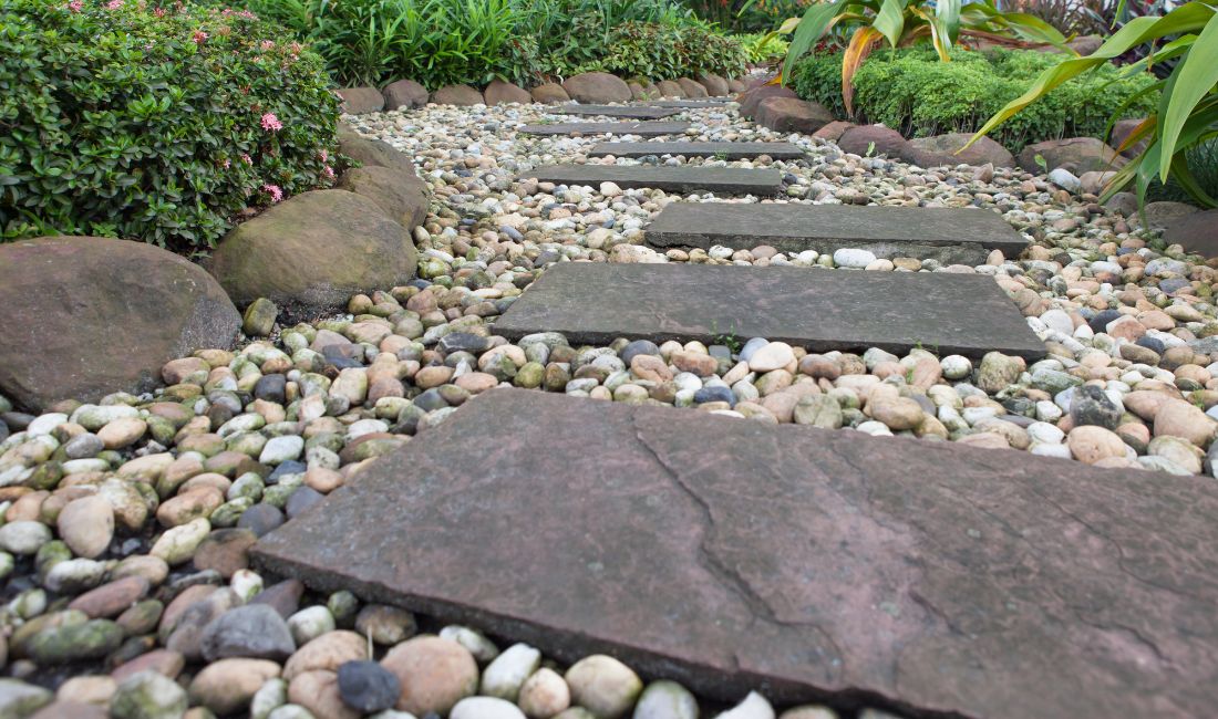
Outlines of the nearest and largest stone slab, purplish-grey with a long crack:
{"label": "nearest and largest stone slab, purplish-grey with a long crack", "polygon": [[727,701],[1218,706],[1208,477],[493,389],[253,557]]}

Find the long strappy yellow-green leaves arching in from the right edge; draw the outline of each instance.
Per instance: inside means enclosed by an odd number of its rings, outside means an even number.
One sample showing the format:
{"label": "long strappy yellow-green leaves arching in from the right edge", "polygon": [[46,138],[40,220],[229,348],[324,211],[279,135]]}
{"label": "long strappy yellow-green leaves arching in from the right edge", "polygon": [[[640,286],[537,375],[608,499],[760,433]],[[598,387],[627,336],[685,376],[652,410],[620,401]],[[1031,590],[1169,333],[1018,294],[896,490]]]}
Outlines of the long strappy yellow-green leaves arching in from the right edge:
{"label": "long strappy yellow-green leaves arching in from the right edge", "polygon": [[1218,207],[1218,198],[1202,187],[1189,167],[1189,151],[1218,137],[1218,11],[1205,2],[1188,2],[1163,17],[1133,18],[1091,55],[1065,60],[1046,69],[1023,95],[996,112],[971,142],[1069,79],[1147,44],[1152,51],[1134,67],[1166,60],[1178,63],[1170,75],[1146,89],[1160,92],[1155,112],[1118,150],[1134,147],[1142,140],[1147,140],[1146,148],[1117,172],[1105,197],[1133,184],[1144,202],[1147,187],[1157,178],[1164,185],[1174,180],[1202,206]]}

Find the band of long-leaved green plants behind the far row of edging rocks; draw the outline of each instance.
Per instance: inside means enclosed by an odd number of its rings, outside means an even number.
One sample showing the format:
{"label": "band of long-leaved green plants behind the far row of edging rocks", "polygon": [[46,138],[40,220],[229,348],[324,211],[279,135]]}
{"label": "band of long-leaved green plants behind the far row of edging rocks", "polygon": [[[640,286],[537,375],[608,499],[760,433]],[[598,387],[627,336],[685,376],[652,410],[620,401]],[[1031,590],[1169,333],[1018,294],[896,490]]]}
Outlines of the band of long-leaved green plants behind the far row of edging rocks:
{"label": "band of long-leaved green plants behind the far row of edging rocks", "polygon": [[607,71],[736,75],[743,47],[672,0],[245,0],[309,44],[340,85],[435,90]]}

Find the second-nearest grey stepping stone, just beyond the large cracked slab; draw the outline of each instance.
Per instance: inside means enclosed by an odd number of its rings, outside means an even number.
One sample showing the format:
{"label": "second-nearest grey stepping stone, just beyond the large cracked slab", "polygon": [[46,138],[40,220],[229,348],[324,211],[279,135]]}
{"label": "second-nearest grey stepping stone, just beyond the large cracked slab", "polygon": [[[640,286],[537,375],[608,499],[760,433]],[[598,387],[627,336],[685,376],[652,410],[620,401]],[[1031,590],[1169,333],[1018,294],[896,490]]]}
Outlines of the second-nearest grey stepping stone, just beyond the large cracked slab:
{"label": "second-nearest grey stepping stone, just beyond the large cracked slab", "polygon": [[709,344],[734,335],[810,352],[1045,355],[993,277],[954,273],[561,263],[495,322],[496,335],[513,339],[544,331],[563,332],[571,344],[618,337]]}

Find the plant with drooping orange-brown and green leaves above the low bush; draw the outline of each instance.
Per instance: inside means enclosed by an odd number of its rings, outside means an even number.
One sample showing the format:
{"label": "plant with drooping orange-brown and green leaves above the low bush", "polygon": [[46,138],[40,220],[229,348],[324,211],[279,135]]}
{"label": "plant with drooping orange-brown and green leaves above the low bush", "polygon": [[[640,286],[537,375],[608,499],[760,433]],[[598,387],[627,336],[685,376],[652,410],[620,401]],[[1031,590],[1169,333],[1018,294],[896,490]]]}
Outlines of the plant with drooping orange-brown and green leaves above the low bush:
{"label": "plant with drooping orange-brown and green leaves above the low bush", "polygon": [[851,79],[864,60],[882,43],[905,47],[929,43],[946,62],[961,38],[1012,47],[1049,44],[1069,51],[1066,38],[1045,21],[1022,12],[1001,12],[993,0],[961,5],[961,0],[833,0],[812,5],[803,18],[792,18],[782,29],[794,28],[790,50],[780,82],[789,78],[795,63],[828,33],[843,38],[842,97],[854,106]]}

